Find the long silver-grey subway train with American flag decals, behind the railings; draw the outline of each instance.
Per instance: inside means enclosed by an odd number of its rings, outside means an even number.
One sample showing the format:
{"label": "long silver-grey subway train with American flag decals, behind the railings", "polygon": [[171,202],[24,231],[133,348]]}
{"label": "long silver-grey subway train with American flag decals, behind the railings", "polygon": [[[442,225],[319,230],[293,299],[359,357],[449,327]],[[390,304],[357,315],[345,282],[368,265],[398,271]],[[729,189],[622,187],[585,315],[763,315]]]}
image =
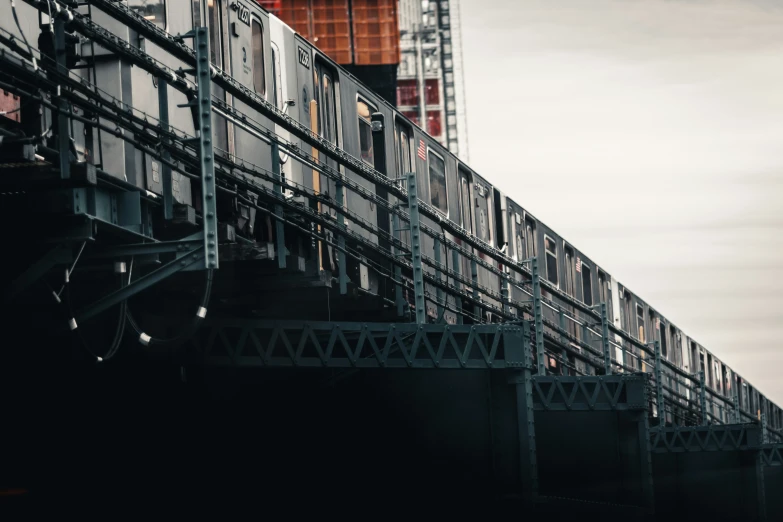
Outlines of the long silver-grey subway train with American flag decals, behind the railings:
{"label": "long silver-grey subway train with American flag decals, behind the railings", "polygon": [[[38,10],[27,4],[20,1],[17,1],[17,4],[20,27],[28,38],[29,35],[39,34],[42,27],[46,30],[45,16],[39,16]],[[176,60],[172,61],[170,55],[155,44],[89,4],[90,2],[86,2],[86,5],[78,7],[78,10],[89,13],[93,21],[131,45],[143,49],[171,67],[179,66]],[[742,409],[750,412],[753,417],[761,413],[762,403],[766,404],[769,411],[765,413],[769,425],[776,429],[783,428],[783,413],[780,408],[770,401],[762,401],[759,391],[738,373],[617,281],[592,258],[533,216],[524,206],[494,186],[489,179],[460,161],[436,139],[263,8],[247,0],[128,0],[127,5],[150,23],[172,35],[185,34],[194,27],[206,25],[209,28],[211,58],[215,67],[226,71],[242,85],[255,91],[323,139],[361,159],[388,178],[397,180],[401,185],[406,173],[415,172],[420,199],[436,209],[442,220],[457,224],[488,247],[504,253],[509,263],[521,263],[531,257],[537,258],[541,275],[549,282],[549,290],[545,289],[544,297],[556,300],[558,294],[555,292],[559,292],[586,307],[606,303],[608,319],[618,329],[641,342],[658,339],[662,356],[666,360],[688,373],[703,370],[706,385],[722,397],[730,400],[736,391]],[[0,14],[4,20],[12,19],[7,2],[0,6]],[[11,30],[10,27],[7,28]],[[13,28],[12,32],[17,32],[16,28]],[[77,53],[90,63],[89,67],[80,70],[80,74],[85,78],[144,113],[153,116],[159,114],[156,93],[158,86],[153,76],[114,58],[90,41],[80,41]],[[275,125],[263,114],[221,88],[215,86],[213,94],[219,101],[224,102],[226,107],[247,115],[261,125],[275,128],[278,135],[297,143],[298,140],[292,137],[286,128]],[[193,134],[194,124],[190,113],[177,107],[186,102],[181,93],[171,91],[170,123],[175,128]],[[43,119],[46,118],[44,114]],[[17,129],[20,125],[30,125],[29,121],[19,122],[16,119],[0,117],[0,127]],[[34,123],[40,125],[40,122]],[[47,125],[48,122],[43,121],[43,124]],[[111,133],[101,130],[91,134],[78,122],[74,122],[73,126],[78,155],[100,164],[105,172],[130,184],[153,194],[161,193],[161,165],[154,158]],[[213,127],[213,139],[219,154],[265,169],[271,168],[273,158],[269,144],[240,125],[230,111],[220,111],[218,108]],[[301,140],[299,143],[302,150],[317,157],[317,150],[311,149]],[[331,159],[324,161],[332,162]],[[324,205],[320,210],[331,215],[337,214],[335,205],[338,188],[333,179],[319,174],[302,162],[293,161],[283,152],[280,153],[279,162],[282,176],[287,182],[334,200],[334,205]],[[350,168],[338,166],[336,163],[332,163],[332,166],[341,169],[348,180],[367,191],[389,200],[393,199],[384,193],[382,187],[376,186]],[[194,206],[198,210],[197,188],[189,178],[174,173],[173,192],[178,203]],[[290,189],[285,192],[286,198],[292,202],[312,204],[308,203],[303,193]],[[524,194],[519,196],[524,197]],[[393,232],[388,213],[356,191],[346,191],[345,208],[374,224],[377,230],[389,234]],[[270,219],[256,215],[253,208],[243,205],[241,201],[230,201],[221,207],[220,219],[232,222],[237,235],[247,240],[259,243],[273,240],[275,232]],[[388,241],[378,233],[358,226],[355,220],[346,221],[349,230],[381,248],[390,248]],[[423,221],[431,228],[440,228],[435,219]],[[402,233],[403,243],[409,241],[407,234]],[[444,238],[446,237],[452,236],[444,232]],[[459,243],[458,238],[454,240]],[[286,246],[289,255],[300,260],[311,273],[323,270],[335,272],[340,263],[338,253],[328,245],[289,236]],[[425,236],[423,250],[433,252],[435,246],[433,239]],[[446,264],[451,263],[445,247],[439,246],[441,258],[446,260]],[[389,289],[385,288],[382,274],[371,262],[373,253],[368,251],[366,255],[367,263],[346,261],[349,264],[349,276],[357,286],[369,293],[390,295]],[[504,269],[496,260],[481,252],[478,252],[478,255],[485,262]],[[458,264],[458,267],[452,265],[452,269],[458,268],[462,274],[471,273],[467,258],[462,258]],[[427,270],[433,272],[431,267]],[[515,285],[512,281],[506,288],[510,302],[524,301],[527,295],[521,290],[521,276],[516,274],[510,277],[518,279],[517,282],[520,283]],[[503,308],[498,299],[504,290],[501,288],[501,280],[483,267],[478,267],[477,280],[480,287],[489,290],[482,298],[487,306],[480,311],[480,317],[466,314],[464,320],[502,320],[492,311]],[[427,290],[432,295],[437,293],[431,285],[428,285]],[[454,297],[447,296],[445,300],[443,309],[439,309],[434,302],[427,304],[430,320],[458,320],[460,308]],[[567,302],[562,306],[569,317],[565,325],[569,337],[589,342],[579,323],[580,320],[586,323],[587,318]],[[514,312],[513,306],[511,312]],[[560,320],[560,314],[548,309],[546,318],[557,322]],[[622,344],[619,337],[615,340]],[[580,350],[578,343],[572,344],[575,350]],[[648,358],[638,350],[627,350],[629,353],[616,349],[616,361],[621,361],[627,371],[649,371],[651,361]],[[566,355],[565,358],[548,355],[547,365],[556,373],[595,371],[571,355]],[[682,393],[689,399],[694,399],[690,391]],[[728,421],[727,412],[717,406],[711,408],[715,417]]]}

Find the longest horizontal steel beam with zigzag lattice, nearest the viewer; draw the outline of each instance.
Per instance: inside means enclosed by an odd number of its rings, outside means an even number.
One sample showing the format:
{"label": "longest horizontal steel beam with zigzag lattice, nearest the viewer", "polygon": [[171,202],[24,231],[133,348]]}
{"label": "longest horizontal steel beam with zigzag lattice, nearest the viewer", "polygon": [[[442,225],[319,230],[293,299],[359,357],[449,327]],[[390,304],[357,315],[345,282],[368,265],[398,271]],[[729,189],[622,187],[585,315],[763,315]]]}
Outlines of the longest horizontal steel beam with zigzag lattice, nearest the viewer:
{"label": "longest horizontal steel beam with zigzag lattice, nearest the viewer", "polygon": [[517,325],[207,320],[188,341],[213,365],[519,369]]}

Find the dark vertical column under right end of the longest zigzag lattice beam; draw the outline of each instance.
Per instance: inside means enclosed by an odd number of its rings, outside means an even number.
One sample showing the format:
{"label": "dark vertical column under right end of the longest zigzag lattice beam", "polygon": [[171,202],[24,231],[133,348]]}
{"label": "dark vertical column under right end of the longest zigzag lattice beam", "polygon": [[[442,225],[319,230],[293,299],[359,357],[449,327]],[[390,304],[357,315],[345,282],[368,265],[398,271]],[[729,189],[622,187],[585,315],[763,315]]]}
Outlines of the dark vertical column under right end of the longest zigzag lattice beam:
{"label": "dark vertical column under right end of the longest zigzag lattice beam", "polygon": [[[516,331],[516,329],[514,329]],[[516,388],[517,437],[519,439],[519,469],[522,486],[522,499],[525,503],[535,500],[538,495],[538,460],[536,456],[536,427],[533,410],[533,378],[530,371],[530,342],[525,332],[530,331],[530,323],[522,322],[522,336],[506,334],[509,342],[522,343],[521,369],[511,375],[510,384]],[[508,346],[508,344],[506,344]],[[525,471],[528,474],[525,474]]]}

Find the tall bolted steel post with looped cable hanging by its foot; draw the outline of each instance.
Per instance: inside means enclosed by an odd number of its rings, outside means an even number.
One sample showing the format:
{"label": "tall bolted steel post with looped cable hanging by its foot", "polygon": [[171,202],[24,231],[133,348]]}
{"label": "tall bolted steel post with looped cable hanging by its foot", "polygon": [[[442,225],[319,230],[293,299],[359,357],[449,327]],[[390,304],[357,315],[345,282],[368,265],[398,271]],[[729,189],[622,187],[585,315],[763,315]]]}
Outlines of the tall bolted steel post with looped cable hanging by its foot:
{"label": "tall bolted steel post with looped cable hanging by its foot", "polygon": [[199,159],[201,160],[201,208],[204,216],[204,265],[218,268],[217,201],[215,162],[212,150],[212,94],[209,64],[209,32],[196,29],[197,112],[199,115]]}

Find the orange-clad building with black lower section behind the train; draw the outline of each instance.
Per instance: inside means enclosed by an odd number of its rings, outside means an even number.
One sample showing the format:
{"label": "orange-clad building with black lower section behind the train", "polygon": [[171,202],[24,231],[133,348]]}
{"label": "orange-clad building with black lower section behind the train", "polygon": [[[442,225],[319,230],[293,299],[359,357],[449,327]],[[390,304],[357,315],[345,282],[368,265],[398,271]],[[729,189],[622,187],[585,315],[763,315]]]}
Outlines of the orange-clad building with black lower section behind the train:
{"label": "orange-clad building with black lower section behind the train", "polygon": [[256,0],[389,103],[400,63],[399,0]]}

